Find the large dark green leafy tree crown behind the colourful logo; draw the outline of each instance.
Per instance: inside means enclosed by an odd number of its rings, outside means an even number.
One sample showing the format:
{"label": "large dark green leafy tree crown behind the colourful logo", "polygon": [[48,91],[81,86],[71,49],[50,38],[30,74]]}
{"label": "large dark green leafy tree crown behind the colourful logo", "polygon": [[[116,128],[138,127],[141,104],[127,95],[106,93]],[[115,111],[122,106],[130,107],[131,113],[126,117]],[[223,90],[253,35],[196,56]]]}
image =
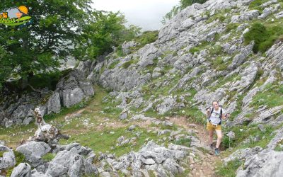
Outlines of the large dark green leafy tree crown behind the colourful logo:
{"label": "large dark green leafy tree crown behind the colourful logo", "polygon": [[[26,1],[32,25],[0,27],[0,82],[11,74],[25,78],[59,67],[59,61],[73,50],[69,46],[76,43],[83,19],[91,14],[87,13],[90,4],[90,0]],[[21,1],[5,1],[0,9],[21,5]]]}

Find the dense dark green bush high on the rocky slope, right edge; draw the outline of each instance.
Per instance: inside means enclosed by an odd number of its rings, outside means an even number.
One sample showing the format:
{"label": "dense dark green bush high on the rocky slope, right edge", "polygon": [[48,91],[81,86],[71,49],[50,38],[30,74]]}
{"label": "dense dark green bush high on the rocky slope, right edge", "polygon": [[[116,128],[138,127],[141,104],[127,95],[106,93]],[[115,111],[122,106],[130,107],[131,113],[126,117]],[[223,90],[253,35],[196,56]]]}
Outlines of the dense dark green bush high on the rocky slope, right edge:
{"label": "dense dark green bush high on the rocky slope, right edge", "polygon": [[243,36],[246,45],[252,40],[255,41],[253,52],[258,53],[267,51],[277,39],[282,38],[282,35],[283,25],[265,27],[261,23],[253,23],[248,33]]}

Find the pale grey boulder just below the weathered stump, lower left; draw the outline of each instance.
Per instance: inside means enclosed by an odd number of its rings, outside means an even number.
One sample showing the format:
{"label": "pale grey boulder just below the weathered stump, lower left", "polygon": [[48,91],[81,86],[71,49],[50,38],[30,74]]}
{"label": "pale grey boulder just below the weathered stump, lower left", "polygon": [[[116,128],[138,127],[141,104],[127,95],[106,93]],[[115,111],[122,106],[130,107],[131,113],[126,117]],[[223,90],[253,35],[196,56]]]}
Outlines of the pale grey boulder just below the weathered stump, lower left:
{"label": "pale grey boulder just below the weathered stump, lower left", "polygon": [[51,148],[45,142],[27,142],[16,149],[25,155],[25,160],[29,161],[33,167],[42,164],[41,157],[48,152]]}

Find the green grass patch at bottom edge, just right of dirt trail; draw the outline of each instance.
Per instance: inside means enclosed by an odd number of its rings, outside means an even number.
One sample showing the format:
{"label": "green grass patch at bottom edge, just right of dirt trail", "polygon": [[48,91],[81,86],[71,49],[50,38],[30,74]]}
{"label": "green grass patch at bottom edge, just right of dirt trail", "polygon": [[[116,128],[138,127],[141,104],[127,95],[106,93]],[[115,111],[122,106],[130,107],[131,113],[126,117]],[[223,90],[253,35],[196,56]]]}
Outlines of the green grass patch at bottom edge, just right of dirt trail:
{"label": "green grass patch at bottom edge, just right of dirt trail", "polygon": [[226,166],[221,165],[216,169],[217,176],[234,177],[236,176],[236,170],[243,164],[238,159],[229,161]]}

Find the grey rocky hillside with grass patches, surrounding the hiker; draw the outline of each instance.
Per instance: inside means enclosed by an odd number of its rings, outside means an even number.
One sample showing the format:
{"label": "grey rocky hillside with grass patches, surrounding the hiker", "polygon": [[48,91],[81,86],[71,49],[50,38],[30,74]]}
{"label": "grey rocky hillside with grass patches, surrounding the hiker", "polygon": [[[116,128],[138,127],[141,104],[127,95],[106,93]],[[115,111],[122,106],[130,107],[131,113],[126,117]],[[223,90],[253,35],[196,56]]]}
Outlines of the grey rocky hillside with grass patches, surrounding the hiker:
{"label": "grey rocky hillside with grass patches, surrounding the hiker", "polygon": [[[30,176],[282,176],[282,19],[281,0],[193,4],[158,37],[80,62],[52,93],[4,96],[0,139],[14,150],[1,145],[13,157],[1,175],[24,162]],[[204,130],[214,100],[231,113],[220,156]],[[71,137],[30,155],[35,106]]]}

